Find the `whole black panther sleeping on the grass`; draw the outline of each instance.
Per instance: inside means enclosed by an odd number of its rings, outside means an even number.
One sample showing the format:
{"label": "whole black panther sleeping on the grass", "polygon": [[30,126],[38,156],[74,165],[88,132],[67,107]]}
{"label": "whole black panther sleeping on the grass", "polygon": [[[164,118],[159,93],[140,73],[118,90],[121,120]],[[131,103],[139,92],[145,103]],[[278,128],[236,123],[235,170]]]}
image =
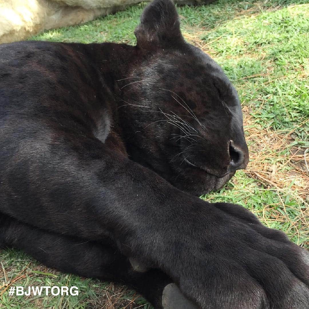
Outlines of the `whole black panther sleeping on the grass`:
{"label": "whole black panther sleeping on the grass", "polygon": [[0,245],[155,308],[308,309],[307,252],[196,197],[248,163],[235,89],[169,0],[135,34],[0,46]]}

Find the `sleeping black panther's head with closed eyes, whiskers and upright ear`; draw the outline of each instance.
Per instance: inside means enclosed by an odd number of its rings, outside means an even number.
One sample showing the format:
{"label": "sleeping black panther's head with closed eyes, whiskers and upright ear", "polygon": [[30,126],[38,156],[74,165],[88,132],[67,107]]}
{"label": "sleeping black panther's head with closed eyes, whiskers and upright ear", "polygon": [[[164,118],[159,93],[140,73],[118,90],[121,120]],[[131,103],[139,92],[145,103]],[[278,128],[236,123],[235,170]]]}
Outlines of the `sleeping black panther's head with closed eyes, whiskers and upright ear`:
{"label": "sleeping black panther's head with closed eyes, whiskers and upright ear", "polygon": [[184,41],[170,0],[147,6],[135,35],[137,61],[119,81],[129,155],[189,193],[222,187],[248,163],[235,88]]}

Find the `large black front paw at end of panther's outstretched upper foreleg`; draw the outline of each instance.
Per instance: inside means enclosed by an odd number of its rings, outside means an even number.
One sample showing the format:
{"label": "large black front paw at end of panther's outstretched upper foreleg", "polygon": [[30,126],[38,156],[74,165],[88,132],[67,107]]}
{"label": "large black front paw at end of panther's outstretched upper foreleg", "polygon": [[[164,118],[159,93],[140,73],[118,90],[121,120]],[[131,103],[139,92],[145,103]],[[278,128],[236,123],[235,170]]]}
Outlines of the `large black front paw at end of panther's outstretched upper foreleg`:
{"label": "large black front paw at end of panther's outstretched upper foreleg", "polygon": [[208,205],[188,220],[174,249],[184,264],[173,265],[180,290],[203,309],[308,309],[308,252],[228,206]]}

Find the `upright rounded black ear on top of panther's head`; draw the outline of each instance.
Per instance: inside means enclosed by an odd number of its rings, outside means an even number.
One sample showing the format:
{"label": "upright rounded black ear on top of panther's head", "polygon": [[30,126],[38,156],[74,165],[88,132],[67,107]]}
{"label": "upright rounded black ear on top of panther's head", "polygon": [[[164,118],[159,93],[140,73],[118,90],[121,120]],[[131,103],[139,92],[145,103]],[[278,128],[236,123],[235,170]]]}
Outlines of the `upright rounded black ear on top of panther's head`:
{"label": "upright rounded black ear on top of panther's head", "polygon": [[144,9],[141,23],[135,29],[137,46],[152,48],[156,45],[172,45],[183,42],[179,16],[171,0],[154,0]]}

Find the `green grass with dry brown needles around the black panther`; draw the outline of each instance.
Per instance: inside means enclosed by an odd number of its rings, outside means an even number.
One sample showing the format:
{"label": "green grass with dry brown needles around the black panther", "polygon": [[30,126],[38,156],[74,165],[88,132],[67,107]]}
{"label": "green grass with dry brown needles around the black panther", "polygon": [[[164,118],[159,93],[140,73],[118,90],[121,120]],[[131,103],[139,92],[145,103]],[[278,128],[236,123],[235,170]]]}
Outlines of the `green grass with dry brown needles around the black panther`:
{"label": "green grass with dry brown needles around the black panther", "polygon": [[[303,153],[309,148],[309,5],[305,2],[219,0],[178,11],[185,38],[209,53],[235,84],[252,158],[247,171],[239,171],[223,189],[202,198],[241,204],[266,225],[308,247],[309,178]],[[44,32],[32,40],[134,44],[133,30],[144,6]],[[17,250],[2,250],[0,261],[9,279],[25,269],[15,285],[75,285],[80,291],[64,298],[10,298],[5,292],[0,308],[124,308],[130,303],[126,299],[136,298],[125,287],[45,269]],[[0,267],[0,286],[2,281]],[[150,308],[142,298],[127,308],[139,306]]]}

